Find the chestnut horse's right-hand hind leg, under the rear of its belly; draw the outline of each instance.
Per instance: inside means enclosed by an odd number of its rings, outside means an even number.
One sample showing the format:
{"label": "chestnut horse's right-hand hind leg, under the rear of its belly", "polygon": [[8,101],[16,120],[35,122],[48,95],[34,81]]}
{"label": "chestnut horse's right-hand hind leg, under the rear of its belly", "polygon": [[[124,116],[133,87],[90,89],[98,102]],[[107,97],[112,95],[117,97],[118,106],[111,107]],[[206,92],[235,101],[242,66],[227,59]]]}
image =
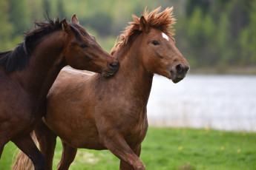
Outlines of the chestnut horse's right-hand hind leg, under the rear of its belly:
{"label": "chestnut horse's right-hand hind leg, under the rear of its belly", "polygon": [[65,142],[62,141],[62,160],[60,160],[58,165],[58,170],[68,170],[70,164],[76,157],[77,149],[71,146],[68,146]]}

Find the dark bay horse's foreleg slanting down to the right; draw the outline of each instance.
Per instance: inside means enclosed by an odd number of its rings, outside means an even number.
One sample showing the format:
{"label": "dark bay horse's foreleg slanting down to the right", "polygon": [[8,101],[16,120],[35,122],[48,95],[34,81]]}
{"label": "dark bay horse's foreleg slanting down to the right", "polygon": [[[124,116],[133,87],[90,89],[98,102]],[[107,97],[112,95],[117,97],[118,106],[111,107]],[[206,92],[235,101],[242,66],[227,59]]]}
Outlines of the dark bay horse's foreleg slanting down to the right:
{"label": "dark bay horse's foreleg slanting down to the right", "polygon": [[39,152],[39,149],[37,149],[30,134],[12,141],[22,150],[22,152],[24,152],[24,154],[27,154],[27,157],[29,157],[30,160],[32,160],[35,170],[45,170],[45,158],[41,152]]}

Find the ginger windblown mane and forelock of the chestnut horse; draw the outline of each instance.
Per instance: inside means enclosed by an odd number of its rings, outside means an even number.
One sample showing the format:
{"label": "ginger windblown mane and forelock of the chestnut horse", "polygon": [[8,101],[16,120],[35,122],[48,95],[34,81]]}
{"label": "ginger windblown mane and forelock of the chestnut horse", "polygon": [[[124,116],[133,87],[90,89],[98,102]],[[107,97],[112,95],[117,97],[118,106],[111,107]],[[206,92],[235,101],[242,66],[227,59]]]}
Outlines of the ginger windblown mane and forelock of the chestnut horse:
{"label": "ginger windblown mane and forelock of the chestnut horse", "polygon": [[[145,8],[144,16],[145,20],[148,22],[148,27],[161,30],[163,33],[169,35],[174,35],[174,30],[172,25],[175,24],[176,19],[173,17],[173,7],[167,7],[163,10],[162,13],[158,13],[161,10],[161,7],[148,13],[147,8]],[[133,15],[134,21],[129,22],[125,30],[119,35],[119,42],[117,42],[111,50],[111,55],[114,55],[114,52],[119,50],[119,47],[128,44],[128,41],[131,39],[132,35],[137,33],[142,33],[142,28],[140,27],[140,18]]]}

